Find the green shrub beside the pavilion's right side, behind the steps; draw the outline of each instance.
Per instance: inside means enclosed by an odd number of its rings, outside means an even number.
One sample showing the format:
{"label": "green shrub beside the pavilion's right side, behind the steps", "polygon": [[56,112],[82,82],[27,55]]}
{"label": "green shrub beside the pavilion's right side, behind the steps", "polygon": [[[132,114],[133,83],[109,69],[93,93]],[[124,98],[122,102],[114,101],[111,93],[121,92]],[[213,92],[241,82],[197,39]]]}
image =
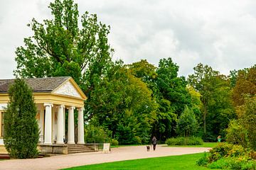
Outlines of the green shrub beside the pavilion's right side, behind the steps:
{"label": "green shrub beside the pavilion's right side, behind the steps", "polygon": [[85,126],[85,142],[87,143],[104,143],[110,142],[108,132],[101,127],[95,127],[94,125]]}

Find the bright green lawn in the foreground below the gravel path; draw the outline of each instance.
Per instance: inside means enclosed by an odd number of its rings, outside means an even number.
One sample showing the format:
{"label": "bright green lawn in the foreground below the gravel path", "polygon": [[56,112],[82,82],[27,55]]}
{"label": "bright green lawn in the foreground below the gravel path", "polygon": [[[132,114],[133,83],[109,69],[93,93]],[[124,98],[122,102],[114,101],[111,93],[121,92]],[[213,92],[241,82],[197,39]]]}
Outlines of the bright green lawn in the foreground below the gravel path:
{"label": "bright green lawn in the foreground below the gravel path", "polygon": [[65,170],[148,170],[148,169],[175,169],[175,170],[185,170],[185,169],[208,169],[207,167],[197,166],[196,161],[203,157],[204,153],[199,154],[184,154],[180,156],[170,156],[170,157],[156,157],[148,159],[135,159],[122,162],[110,162],[104,164],[92,164],[87,166],[77,166]]}

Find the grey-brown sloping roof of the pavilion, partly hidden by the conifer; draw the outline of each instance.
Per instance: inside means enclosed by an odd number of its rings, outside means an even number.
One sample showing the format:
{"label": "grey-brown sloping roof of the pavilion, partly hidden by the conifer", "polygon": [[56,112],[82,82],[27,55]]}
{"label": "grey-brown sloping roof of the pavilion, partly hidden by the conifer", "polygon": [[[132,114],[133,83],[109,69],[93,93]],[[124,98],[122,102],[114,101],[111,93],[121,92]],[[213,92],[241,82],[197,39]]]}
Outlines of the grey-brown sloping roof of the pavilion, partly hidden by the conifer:
{"label": "grey-brown sloping roof of the pavilion, partly hidden by the conifer", "polygon": [[[58,88],[70,77],[48,77],[24,79],[33,92],[51,92]],[[7,93],[9,86],[14,83],[14,79],[0,79],[0,93]]]}

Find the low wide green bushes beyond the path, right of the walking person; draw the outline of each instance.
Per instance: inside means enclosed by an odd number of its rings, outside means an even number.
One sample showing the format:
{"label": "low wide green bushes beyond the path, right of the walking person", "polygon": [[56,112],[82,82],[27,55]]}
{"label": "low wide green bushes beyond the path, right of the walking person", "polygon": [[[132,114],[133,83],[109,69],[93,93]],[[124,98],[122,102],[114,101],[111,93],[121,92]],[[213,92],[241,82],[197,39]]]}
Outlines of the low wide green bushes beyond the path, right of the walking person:
{"label": "low wide green bushes beyond the path, right of the walking person", "polygon": [[166,140],[167,145],[203,145],[200,137],[172,137]]}

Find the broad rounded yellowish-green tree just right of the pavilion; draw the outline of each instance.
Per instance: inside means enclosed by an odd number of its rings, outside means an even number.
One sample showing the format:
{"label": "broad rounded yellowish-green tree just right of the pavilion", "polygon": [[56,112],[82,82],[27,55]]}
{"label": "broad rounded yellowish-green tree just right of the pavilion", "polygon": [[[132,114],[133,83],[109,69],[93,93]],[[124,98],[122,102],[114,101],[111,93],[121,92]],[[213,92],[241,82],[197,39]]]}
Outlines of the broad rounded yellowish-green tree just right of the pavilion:
{"label": "broad rounded yellowish-green tree just right of the pavilion", "polygon": [[119,144],[149,142],[157,105],[146,84],[122,63],[110,69],[85,107],[94,115],[95,125],[110,130]]}

